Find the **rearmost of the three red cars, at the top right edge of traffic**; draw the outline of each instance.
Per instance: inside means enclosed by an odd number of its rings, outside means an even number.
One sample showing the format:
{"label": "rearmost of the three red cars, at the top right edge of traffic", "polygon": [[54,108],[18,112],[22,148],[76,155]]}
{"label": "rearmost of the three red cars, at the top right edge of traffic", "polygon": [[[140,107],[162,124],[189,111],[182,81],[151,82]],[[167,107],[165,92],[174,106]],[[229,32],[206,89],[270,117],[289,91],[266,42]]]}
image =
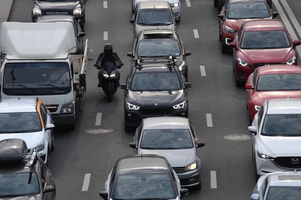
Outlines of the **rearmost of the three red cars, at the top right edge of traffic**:
{"label": "rearmost of the three red cars, at the top right edge of traffic", "polygon": [[279,15],[273,12],[266,0],[229,0],[217,16],[219,18],[219,41],[222,42],[222,53],[232,50],[235,32],[241,24],[254,19],[272,19]]}

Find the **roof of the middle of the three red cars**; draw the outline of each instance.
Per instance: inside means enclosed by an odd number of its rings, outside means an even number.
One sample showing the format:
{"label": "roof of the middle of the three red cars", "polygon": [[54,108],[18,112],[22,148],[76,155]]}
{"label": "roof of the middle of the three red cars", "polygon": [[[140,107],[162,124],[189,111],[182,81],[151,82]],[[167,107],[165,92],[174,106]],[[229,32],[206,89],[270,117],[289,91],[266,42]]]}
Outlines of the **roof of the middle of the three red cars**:
{"label": "roof of the middle of the three red cars", "polygon": [[285,30],[282,22],[277,19],[257,19],[247,21],[245,31],[281,31]]}

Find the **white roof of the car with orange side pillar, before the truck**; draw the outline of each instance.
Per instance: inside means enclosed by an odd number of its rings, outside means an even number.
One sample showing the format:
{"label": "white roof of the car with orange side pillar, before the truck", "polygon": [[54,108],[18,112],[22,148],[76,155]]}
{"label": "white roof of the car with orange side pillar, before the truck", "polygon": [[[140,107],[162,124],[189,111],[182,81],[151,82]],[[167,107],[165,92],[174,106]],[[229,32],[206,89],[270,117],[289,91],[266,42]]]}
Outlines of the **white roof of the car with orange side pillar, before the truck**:
{"label": "white roof of the car with orange side pillar, before the truck", "polygon": [[37,112],[37,98],[13,98],[0,101],[0,113]]}

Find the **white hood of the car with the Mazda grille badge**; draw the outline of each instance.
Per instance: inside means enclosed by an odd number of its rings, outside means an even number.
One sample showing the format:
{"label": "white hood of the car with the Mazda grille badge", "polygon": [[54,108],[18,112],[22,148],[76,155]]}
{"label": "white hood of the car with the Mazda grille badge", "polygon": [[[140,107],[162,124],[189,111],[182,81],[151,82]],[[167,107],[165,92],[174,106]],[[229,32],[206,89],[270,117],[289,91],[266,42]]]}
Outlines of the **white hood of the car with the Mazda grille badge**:
{"label": "white hood of the car with the Mazda grille badge", "polygon": [[301,154],[300,137],[259,136],[261,153],[270,156],[280,154]]}

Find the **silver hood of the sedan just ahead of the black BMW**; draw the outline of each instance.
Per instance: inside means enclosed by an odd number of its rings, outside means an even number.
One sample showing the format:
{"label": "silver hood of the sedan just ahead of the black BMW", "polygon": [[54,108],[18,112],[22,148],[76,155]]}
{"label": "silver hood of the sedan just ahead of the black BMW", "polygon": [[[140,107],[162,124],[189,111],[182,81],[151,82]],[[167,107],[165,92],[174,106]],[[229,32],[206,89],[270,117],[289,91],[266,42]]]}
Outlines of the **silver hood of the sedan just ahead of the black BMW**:
{"label": "silver hood of the sedan just ahead of the black BMW", "polygon": [[185,167],[194,161],[195,149],[139,149],[138,154],[157,154],[167,158],[172,167]]}

